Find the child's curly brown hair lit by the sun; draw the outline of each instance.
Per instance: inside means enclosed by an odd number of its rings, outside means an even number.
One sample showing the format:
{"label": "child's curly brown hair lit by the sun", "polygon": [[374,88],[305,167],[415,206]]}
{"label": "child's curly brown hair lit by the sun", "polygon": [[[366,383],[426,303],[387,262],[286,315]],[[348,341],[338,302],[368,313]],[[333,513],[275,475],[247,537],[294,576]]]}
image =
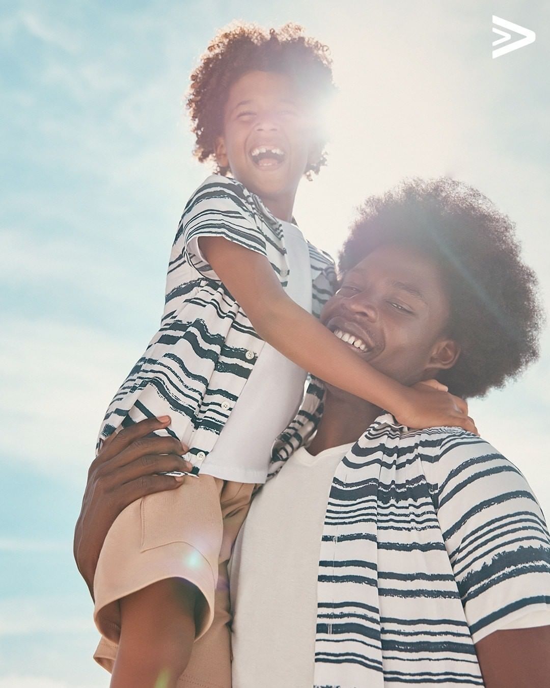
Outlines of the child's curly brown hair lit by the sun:
{"label": "child's curly brown hair lit by the sun", "polygon": [[[329,49],[303,35],[303,28],[287,23],[278,31],[265,31],[254,24],[233,24],[222,29],[210,42],[200,64],[191,74],[187,98],[195,156],[199,162],[215,160],[214,145],[223,133],[223,108],[229,90],[243,74],[254,70],[287,74],[304,94],[309,107],[319,107],[333,92]],[[322,153],[305,173],[318,173],[327,163],[326,136],[319,132]],[[227,174],[227,167],[217,167]]]}

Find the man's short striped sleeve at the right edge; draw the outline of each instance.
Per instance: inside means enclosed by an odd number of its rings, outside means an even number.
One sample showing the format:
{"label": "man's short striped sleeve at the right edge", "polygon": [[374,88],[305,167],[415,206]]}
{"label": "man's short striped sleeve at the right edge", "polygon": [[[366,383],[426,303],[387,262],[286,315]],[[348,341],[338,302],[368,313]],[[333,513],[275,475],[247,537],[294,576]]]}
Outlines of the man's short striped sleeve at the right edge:
{"label": "man's short striped sleeve at the right edge", "polygon": [[526,614],[550,619],[550,538],[525,477],[463,431],[443,440],[435,470],[439,524],[474,643]]}

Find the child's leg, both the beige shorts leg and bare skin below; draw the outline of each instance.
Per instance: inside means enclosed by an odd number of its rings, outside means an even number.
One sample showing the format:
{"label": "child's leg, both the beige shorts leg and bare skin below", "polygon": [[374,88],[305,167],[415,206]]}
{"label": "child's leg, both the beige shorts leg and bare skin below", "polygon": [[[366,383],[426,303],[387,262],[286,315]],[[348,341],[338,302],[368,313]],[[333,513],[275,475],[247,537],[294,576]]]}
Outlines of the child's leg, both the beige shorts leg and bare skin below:
{"label": "child's leg, both the beige shorts leg and bare skin below", "polygon": [[[97,659],[114,672],[113,686],[175,685],[192,643],[208,629],[223,535],[222,487],[223,481],[201,475],[179,491],[148,495],[126,507],[107,533],[94,580],[95,619],[111,641],[109,653]],[[168,682],[155,685],[163,668]],[[137,678],[130,678],[132,671]]]}

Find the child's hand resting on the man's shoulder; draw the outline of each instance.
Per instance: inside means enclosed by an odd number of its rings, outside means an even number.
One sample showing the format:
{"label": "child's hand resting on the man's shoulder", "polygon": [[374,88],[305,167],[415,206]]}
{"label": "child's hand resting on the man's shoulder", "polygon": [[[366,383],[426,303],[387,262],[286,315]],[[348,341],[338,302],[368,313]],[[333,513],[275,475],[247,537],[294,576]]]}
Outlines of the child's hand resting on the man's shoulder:
{"label": "child's hand resting on the man's shoulder", "polygon": [[477,435],[474,421],[468,416],[467,403],[444,389],[445,385],[437,380],[407,387],[404,405],[394,413],[395,418],[414,429],[453,426]]}

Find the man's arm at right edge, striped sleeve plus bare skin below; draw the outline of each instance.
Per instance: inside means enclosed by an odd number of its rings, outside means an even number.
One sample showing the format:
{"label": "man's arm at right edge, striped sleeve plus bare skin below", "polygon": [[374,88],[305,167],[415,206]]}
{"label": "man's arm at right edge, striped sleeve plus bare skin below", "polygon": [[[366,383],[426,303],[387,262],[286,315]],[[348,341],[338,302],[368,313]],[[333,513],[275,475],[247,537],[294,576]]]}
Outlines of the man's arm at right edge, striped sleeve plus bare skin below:
{"label": "man's arm at right edge, striped sleeve plus bare skin below", "polygon": [[[426,477],[439,486],[439,525],[486,688],[548,688],[550,538],[525,477],[494,447],[442,431]],[[521,621],[521,619],[519,620]]]}

